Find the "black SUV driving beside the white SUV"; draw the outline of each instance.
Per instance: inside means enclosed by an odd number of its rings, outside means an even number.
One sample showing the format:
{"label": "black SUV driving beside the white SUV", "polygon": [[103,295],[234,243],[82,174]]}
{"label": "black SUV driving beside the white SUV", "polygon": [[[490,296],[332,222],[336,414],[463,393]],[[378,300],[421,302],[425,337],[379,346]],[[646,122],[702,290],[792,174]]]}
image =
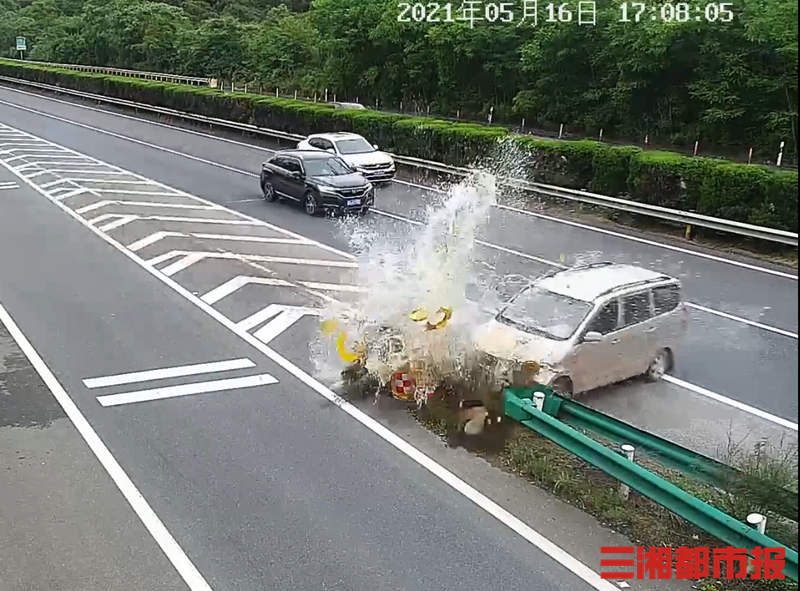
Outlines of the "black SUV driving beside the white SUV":
{"label": "black SUV driving beside the white SUV", "polygon": [[298,201],[309,215],[328,210],[366,213],[375,203],[375,189],[344,160],[318,150],[278,152],[261,167],[265,201]]}

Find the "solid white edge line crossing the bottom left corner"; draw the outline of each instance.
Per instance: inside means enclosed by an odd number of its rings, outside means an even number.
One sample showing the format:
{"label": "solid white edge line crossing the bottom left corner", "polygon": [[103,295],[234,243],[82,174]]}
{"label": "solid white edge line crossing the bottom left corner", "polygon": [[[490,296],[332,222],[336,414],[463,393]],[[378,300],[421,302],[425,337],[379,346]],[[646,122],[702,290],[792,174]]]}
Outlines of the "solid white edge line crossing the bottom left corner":
{"label": "solid white edge line crossing the bottom left corner", "polygon": [[175,538],[172,537],[172,534],[164,527],[158,515],[156,515],[155,511],[153,511],[147,503],[136,488],[136,485],[133,484],[133,481],[122,469],[122,466],[119,465],[119,462],[111,455],[111,452],[89,424],[89,421],[83,416],[69,397],[69,394],[67,394],[66,390],[64,390],[58,382],[53,372],[50,371],[50,368],[47,367],[47,364],[45,364],[44,360],[42,360],[36,352],[36,349],[33,348],[33,345],[31,345],[30,341],[28,341],[2,304],[0,304],[0,322],[5,325],[11,337],[17,342],[23,353],[25,353],[31,365],[42,378],[42,381],[47,385],[53,397],[61,405],[61,408],[64,409],[64,412],[72,421],[72,424],[75,425],[78,433],[81,434],[81,437],[83,437],[83,440],[89,446],[89,449],[92,450],[100,464],[105,468],[108,475],[114,481],[114,484],[116,484],[117,488],[122,493],[122,496],[128,501],[128,504],[147,528],[147,531],[150,532],[150,535],[153,536],[153,539],[178,571],[178,574],[180,574],[189,589],[191,591],[211,591],[211,587],[206,583],[203,575],[195,568],[192,561],[189,560],[189,557],[186,556],[186,553],[175,541]]}

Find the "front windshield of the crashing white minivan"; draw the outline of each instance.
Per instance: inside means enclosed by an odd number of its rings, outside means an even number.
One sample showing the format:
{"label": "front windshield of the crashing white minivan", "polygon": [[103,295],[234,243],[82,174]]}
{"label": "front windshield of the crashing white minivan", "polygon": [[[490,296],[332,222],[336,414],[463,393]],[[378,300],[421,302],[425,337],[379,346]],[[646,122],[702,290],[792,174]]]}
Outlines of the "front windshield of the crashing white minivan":
{"label": "front windshield of the crashing white minivan", "polygon": [[543,334],[548,338],[565,341],[592,311],[592,305],[531,287],[521,292],[497,319],[525,332]]}

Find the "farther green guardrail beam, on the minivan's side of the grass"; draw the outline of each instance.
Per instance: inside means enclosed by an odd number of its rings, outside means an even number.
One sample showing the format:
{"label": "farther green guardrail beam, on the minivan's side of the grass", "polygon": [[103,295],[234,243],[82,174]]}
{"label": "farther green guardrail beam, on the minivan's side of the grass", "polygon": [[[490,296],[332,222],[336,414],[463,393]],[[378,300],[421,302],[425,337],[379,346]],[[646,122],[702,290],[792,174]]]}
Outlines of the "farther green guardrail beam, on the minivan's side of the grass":
{"label": "farther green guardrail beam, on the minivan's side of the grass", "polygon": [[[551,417],[577,429],[590,431],[617,444],[630,444],[636,452],[656,459],[661,465],[684,472],[711,486],[735,492],[743,482],[742,473],[708,456],[682,447],[615,419],[605,413],[589,408],[579,402],[564,398],[552,388],[533,386],[530,388],[508,388],[507,392],[518,398],[530,399],[535,392],[545,395],[544,412]],[[779,487],[762,487],[759,501],[764,509],[788,519],[797,519],[797,493]]]}

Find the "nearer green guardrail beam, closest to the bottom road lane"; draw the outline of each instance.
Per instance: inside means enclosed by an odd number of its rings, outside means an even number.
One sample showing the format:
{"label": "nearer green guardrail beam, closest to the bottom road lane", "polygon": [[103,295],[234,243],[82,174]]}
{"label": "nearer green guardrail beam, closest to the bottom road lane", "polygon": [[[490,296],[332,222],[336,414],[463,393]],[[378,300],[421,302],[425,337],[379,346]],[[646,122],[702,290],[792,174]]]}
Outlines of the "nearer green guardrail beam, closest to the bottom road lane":
{"label": "nearer green guardrail beam, closest to the bottom road lane", "polygon": [[[635,462],[631,462],[616,451],[578,432],[566,423],[550,416],[546,411],[538,410],[532,400],[535,391],[547,392],[545,389],[506,389],[503,392],[506,416],[547,437],[726,544],[748,549],[755,547],[786,548],[780,542],[708,503],[704,503],[671,482],[656,476]],[[553,402],[551,402],[552,404]],[[797,582],[798,556],[797,552],[791,548],[786,548],[784,573],[789,579]]]}

